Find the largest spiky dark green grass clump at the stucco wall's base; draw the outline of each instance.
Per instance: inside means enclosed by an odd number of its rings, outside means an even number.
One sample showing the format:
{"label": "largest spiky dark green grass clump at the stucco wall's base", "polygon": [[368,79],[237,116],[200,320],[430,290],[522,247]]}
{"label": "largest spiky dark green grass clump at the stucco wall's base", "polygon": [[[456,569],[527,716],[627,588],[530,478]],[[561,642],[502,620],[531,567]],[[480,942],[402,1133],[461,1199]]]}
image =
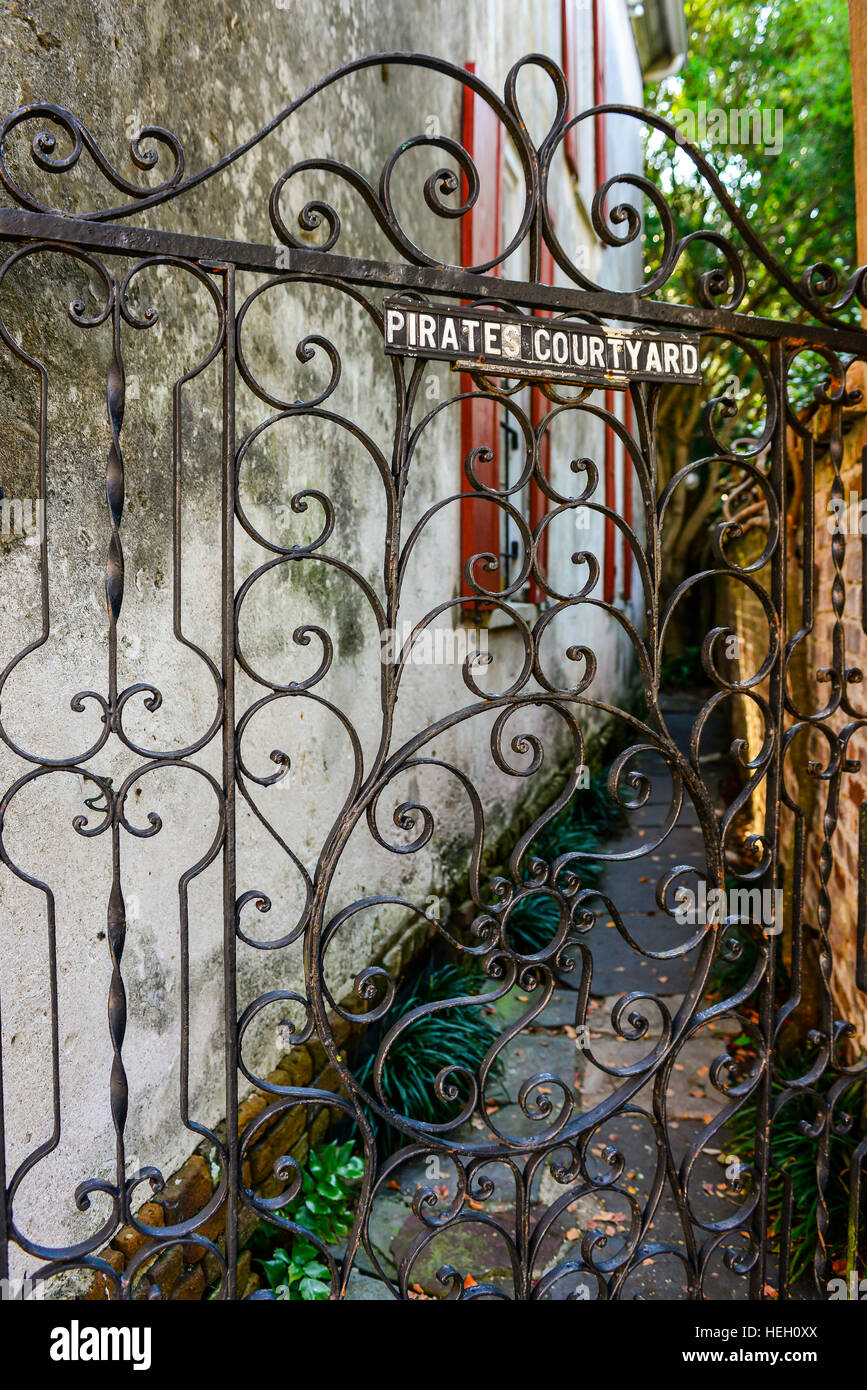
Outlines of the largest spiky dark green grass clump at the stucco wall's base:
{"label": "largest spiky dark green grass clump at the stucco wall's base", "polygon": [[[485,983],[485,976],[478,970],[470,973],[450,963],[422,973],[410,994],[392,1009],[388,1024],[390,1027],[418,1005],[478,994]],[[435,1090],[438,1074],[443,1068],[454,1065],[468,1072],[478,1072],[488,1048],[497,1037],[497,1029],[482,1013],[481,1006],[463,1005],[425,1015],[410,1024],[388,1051],[382,1068],[382,1094],[386,1104],[399,1115],[421,1123],[442,1123],[450,1119],[457,1105],[467,1099],[467,1081],[456,1077],[457,1101],[442,1101]],[[368,1084],[372,1069],[371,1055],[358,1069],[363,1086]],[[502,1066],[495,1063],[492,1074],[497,1077],[500,1072]],[[375,1116],[371,1115],[370,1119],[378,1129]],[[381,1143],[386,1151],[395,1148],[400,1144],[400,1134],[386,1126]]]}

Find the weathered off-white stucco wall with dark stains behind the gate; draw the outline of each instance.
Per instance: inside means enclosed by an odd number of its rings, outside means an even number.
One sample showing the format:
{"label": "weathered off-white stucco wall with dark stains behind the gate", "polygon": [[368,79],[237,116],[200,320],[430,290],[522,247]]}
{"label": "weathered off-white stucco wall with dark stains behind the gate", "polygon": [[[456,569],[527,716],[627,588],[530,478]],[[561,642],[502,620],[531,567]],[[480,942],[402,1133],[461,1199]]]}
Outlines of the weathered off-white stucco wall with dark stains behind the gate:
{"label": "weathered off-white stucco wall with dark stains behind the gate", "polygon": [[[586,13],[589,24],[589,8]],[[524,53],[560,56],[559,0],[532,6],[452,0],[424,4],[238,3],[206,0],[195,6],[160,3],[6,4],[0,10],[0,106],[47,100],[71,108],[96,135],[111,163],[136,178],[126,142],[142,124],[178,133],[188,170],[193,171],[231,150],[320,75],[352,57],[378,50],[414,49],[454,63],[474,60],[479,71],[502,88],[509,67]],[[611,6],[609,97],[641,103],[641,75],[628,35],[625,6]],[[542,132],[553,115],[553,99],[528,74],[531,131]],[[585,104],[589,93],[585,93]],[[213,234],[236,239],[272,240],[268,192],[292,163],[333,157],[360,168],[374,183],[383,160],[402,140],[436,117],[443,133],[460,135],[457,83],[420,71],[390,65],[353,76],[324,93],[249,157],[220,179],[168,203],[136,221],[165,229]],[[532,124],[535,121],[535,125]],[[32,136],[28,133],[28,140]],[[610,171],[641,167],[635,133],[610,136]],[[33,170],[24,149],[18,168],[29,186],[54,188],[69,211],[106,206],[107,185],[83,156],[57,192],[58,181]],[[428,238],[443,260],[459,259],[459,228],[434,220],[424,208],[421,186],[434,167],[413,152],[395,179],[396,199],[407,210],[407,225]],[[442,160],[440,160],[442,161]],[[613,288],[641,279],[641,250],[606,250],[604,260],[589,232],[586,213],[575,199],[565,163],[554,171],[553,206],[565,245],[586,247],[589,274]],[[286,190],[286,218],[311,196],[313,181],[296,181]],[[302,192],[303,189],[303,192]],[[336,189],[336,190],[335,190]],[[329,193],[343,218],[340,246],[361,256],[392,259],[370,213],[346,186],[332,178]],[[415,213],[415,208],[421,213]],[[410,211],[410,208],[413,211]],[[321,235],[321,234],[318,234]],[[315,245],[317,234],[311,235]],[[119,271],[119,263],[111,265]],[[258,281],[239,277],[239,302]],[[47,502],[50,555],[49,639],[14,669],[3,689],[4,730],[33,759],[68,758],[83,752],[103,731],[101,709],[86,698],[81,709],[71,701],[81,691],[106,691],[107,635],[104,610],[106,553],[110,539],[106,509],[106,457],[111,443],[106,414],[106,377],[111,354],[107,322],[81,327],[67,304],[81,297],[96,314],[103,288],[97,271],[69,256],[44,253],[10,272],[0,289],[0,311],[8,332],[47,370]],[[382,296],[374,296],[377,302]],[[195,742],[211,724],[217,689],[206,656],[220,662],[220,363],[206,366],[178,393],[176,381],[203,361],[217,332],[207,289],[178,268],[147,270],[131,288],[131,307],[142,314],[158,310],[154,327],[122,329],[126,373],[126,410],[121,431],[125,463],[125,509],[121,537],[125,552],[125,595],[118,634],[118,685],[150,682],[161,692],[158,709],[143,695],[125,709],[128,737],[149,751],[174,753]],[[324,334],[342,354],[343,374],[327,409],[364,430],[390,457],[395,393],[375,327],[364,311],[336,289],[278,286],[250,309],[245,348],[251,371],[276,396],[310,398],[328,381],[328,361],[320,348],[307,363],[296,346],[307,334]],[[431,374],[429,399],[452,393],[446,370]],[[172,552],[172,409],[183,435],[178,524],[179,573]],[[239,385],[238,438],[265,418],[270,407]],[[6,350],[0,384],[0,473],[7,498],[38,493],[39,374]],[[564,491],[574,475],[570,460],[599,459],[599,427],[568,417],[554,436],[553,475]],[[438,498],[459,489],[459,410],[443,410],[429,430],[413,464],[407,493],[404,537],[415,518]],[[621,488],[618,468],[618,488]],[[329,552],[354,567],[382,591],[382,546],[386,513],[382,488],[368,452],[339,424],[300,417],[286,420],[250,445],[239,473],[240,495],[250,523],[282,543],[300,543],[317,534],[322,510],[311,500],[304,513],[292,498],[304,488],[327,492],[335,507]],[[564,524],[565,531],[568,525]],[[557,538],[559,537],[559,538]],[[552,577],[568,591],[575,580],[575,549],[602,553],[599,518],[581,535],[552,530]],[[268,552],[238,531],[236,582],[265,560]],[[0,660],[10,662],[40,632],[39,546],[10,537],[1,548]],[[407,571],[400,621],[414,623],[432,603],[460,592],[459,509],[443,509],[431,523]],[[618,584],[620,588],[620,584]],[[636,585],[634,587],[636,589]],[[176,621],[193,651],[178,641]],[[632,603],[636,607],[636,600]],[[571,630],[561,623],[552,634],[552,671],[568,670],[563,652],[571,644],[595,649],[599,671],[591,694],[616,702],[631,676],[629,649],[611,619],[596,609],[578,609]],[[300,681],[321,660],[321,644],[293,642],[302,626],[327,628],[335,662],[321,687],[332,705],[345,710],[358,731],[370,759],[381,735],[379,644],[375,624],[358,589],[338,570],[310,562],[281,566],[251,591],[240,619],[240,642],[257,671],[274,682]],[[486,688],[503,689],[521,666],[521,644],[513,628],[492,628],[493,664]],[[203,655],[204,653],[204,655]],[[572,669],[574,674],[574,669]],[[146,692],[144,692],[146,694]],[[264,694],[239,674],[238,710]],[[467,692],[460,669],[418,666],[407,671],[397,706],[393,746],[460,703]],[[468,721],[425,749],[454,760],[479,787],[496,838],[514,808],[528,799],[527,783],[496,769],[490,758],[489,717]],[[545,771],[535,778],[539,794],[556,774],[563,735],[557,720],[534,712],[511,734],[535,731],[546,744]],[[592,731],[592,730],[591,730]],[[511,737],[510,734],[510,737]],[[245,735],[245,763],[258,777],[270,776],[270,755],[282,749],[289,773],[272,787],[253,787],[251,801],[282,841],[313,870],[325,835],[347,792],[352,776],[349,741],[339,721],[314,702],[275,702],[250,723]],[[511,755],[510,755],[511,756]],[[220,741],[211,741],[197,764],[220,780]],[[89,770],[117,785],[140,759],[113,737],[88,762]],[[0,752],[3,785],[36,763]],[[514,755],[521,767],[521,755]],[[3,1065],[7,1109],[7,1169],[13,1173],[25,1155],[49,1141],[57,1123],[61,1143],[50,1147],[24,1175],[15,1195],[15,1218],[35,1241],[61,1244],[83,1238],[99,1227],[106,1202],[94,1197],[89,1212],[76,1212],[74,1191],[90,1177],[113,1179],[114,1133],[108,1108],[111,1044],[106,999],[111,963],[106,942],[106,909],[111,881],[110,835],[83,837],[74,828],[78,816],[89,827],[99,809],[86,809],[82,783],[74,774],[33,780],[10,803],[4,842],[22,883],[0,869],[3,952]],[[392,788],[389,788],[392,791]],[[414,855],[392,855],[378,847],[365,827],[347,845],[335,877],[329,908],[338,910],[358,897],[397,894],[424,905],[429,894],[447,892],[465,865],[471,815],[460,784],[446,774],[418,770],[399,778],[392,799],[379,810],[386,838],[400,841],[392,824],[402,801],[431,806],[436,833]],[[97,803],[99,805],[99,803]],[[156,812],[163,828],[151,838],[122,835],[122,883],[128,909],[128,937],[122,973],[129,1020],[124,1055],[129,1080],[126,1123],[128,1172],[143,1163],[170,1173],[197,1141],[179,1118],[181,1016],[189,995],[189,1119],[215,1125],[225,1109],[222,1058],[222,908],[221,865],[217,858],[189,877],[189,980],[183,980],[183,920],[179,880],[210,855],[218,830],[217,802],[204,777],[167,766],[151,771],[131,791],[128,813],[138,828]],[[406,837],[404,837],[406,838]],[[51,934],[50,888],[56,920],[57,1013],[56,1038],[60,1090],[51,1081]],[[242,927],[257,938],[278,940],[297,920],[303,883],[290,867],[275,835],[263,826],[253,805],[239,801],[238,891],[264,894],[271,910],[245,909]],[[181,903],[182,905],[182,903]],[[406,915],[374,908],[353,919],[329,952],[328,984],[339,997],[368,960],[388,944]],[[278,951],[256,951],[239,944],[239,1011],[268,988],[302,990],[300,944]],[[264,1011],[247,1034],[246,1061],[258,1070],[274,1065],[281,1051],[276,1024],[285,1006]],[[103,1205],[100,1205],[103,1204]],[[26,1264],[26,1261],[24,1261]]]}

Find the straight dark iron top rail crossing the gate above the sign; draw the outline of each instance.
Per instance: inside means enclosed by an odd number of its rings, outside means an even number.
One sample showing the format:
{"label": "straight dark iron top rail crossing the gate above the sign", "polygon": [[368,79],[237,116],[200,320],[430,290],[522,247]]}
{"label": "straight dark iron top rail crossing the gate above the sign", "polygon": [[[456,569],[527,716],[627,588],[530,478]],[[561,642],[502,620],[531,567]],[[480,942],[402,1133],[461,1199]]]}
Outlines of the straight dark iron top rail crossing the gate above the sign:
{"label": "straight dark iron top rail crossing the gate above the sign", "polygon": [[472,275],[459,267],[408,265],[393,261],[336,256],[256,242],[232,242],[218,236],[189,236],[147,227],[115,227],[51,213],[0,208],[0,240],[65,242],[113,256],[179,256],[201,264],[232,264],[238,270],[265,274],[327,275],[381,289],[411,289],[432,295],[460,295],[461,299],[509,300],[528,309],[574,310],[660,328],[697,332],[729,332],[761,342],[784,339],[798,346],[827,346],[867,357],[867,331],[831,324],[802,324],[760,318],[727,309],[667,304],[618,291],[585,291],[564,285],[538,285],[499,275]]}

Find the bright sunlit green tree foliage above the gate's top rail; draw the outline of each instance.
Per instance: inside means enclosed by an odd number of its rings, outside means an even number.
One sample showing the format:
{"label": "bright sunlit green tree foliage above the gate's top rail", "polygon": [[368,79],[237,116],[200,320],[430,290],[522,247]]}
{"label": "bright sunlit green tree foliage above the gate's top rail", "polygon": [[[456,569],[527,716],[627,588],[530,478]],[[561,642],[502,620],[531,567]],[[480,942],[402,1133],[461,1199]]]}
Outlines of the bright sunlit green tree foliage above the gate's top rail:
{"label": "bright sunlit green tree foliage above the gate's top rail", "polygon": [[[647,92],[656,114],[682,125],[682,114],[759,108],[782,113],[782,149],[704,143],[702,153],[774,256],[795,278],[814,261],[839,268],[854,260],[854,168],[849,28],[845,0],[689,0],[689,51],[682,74]],[[699,228],[729,232],[728,217],[699,172],[671,140],[647,142],[650,177],[666,190],[678,235]],[[652,215],[649,260],[659,238]],[[700,250],[699,250],[700,249]],[[696,259],[696,253],[700,257]],[[691,299],[696,271],[720,264],[693,243],[668,281],[671,299]],[[800,317],[750,257],[743,309]]]}

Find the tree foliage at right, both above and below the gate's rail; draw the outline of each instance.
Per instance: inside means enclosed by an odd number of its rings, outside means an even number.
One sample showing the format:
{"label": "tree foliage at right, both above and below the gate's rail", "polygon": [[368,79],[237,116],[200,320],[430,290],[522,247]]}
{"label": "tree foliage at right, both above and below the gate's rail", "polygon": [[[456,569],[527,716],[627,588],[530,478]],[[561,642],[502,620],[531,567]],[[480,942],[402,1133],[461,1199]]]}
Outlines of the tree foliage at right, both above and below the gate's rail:
{"label": "tree foliage at right, both above and below the gate's rail", "polygon": [[[792,279],[807,267],[831,264],[845,284],[854,263],[854,170],[852,89],[846,0],[688,0],[689,51],[682,72],[649,89],[646,106],[689,136],[691,126],[702,154],[738,204],[753,232]],[[782,146],[777,153],[763,143],[731,143],[718,139],[732,131],[732,113],[767,113],[766,132],[774,131],[774,113],[782,118]],[[722,111],[725,125],[711,118]],[[686,114],[692,113],[692,118]],[[706,138],[700,117],[704,115]],[[717,140],[707,136],[717,135]],[[742,253],[746,293],[741,313],[791,321],[803,310],[778,284],[754,253],[745,247],[713,189],[685,150],[670,138],[650,132],[646,142],[647,175],[663,192],[678,238],[704,231],[729,238]],[[645,218],[647,272],[659,264],[661,221],[647,204]],[[697,278],[725,270],[718,247],[693,240],[666,285],[657,291],[672,302],[695,304]],[[731,274],[731,272],[729,272]],[[725,303],[729,289],[720,296]],[[856,317],[857,306],[849,307]],[[666,388],[659,413],[660,485],[696,460],[691,486],[672,496],[666,530],[666,585],[674,588],[706,557],[713,523],[721,516],[722,495],[742,484],[731,459],[707,453],[702,407],[724,391],[736,411],[717,413],[717,428],[727,432],[736,453],[739,436],[756,434],[764,417],[764,399],[756,368],[746,354],[724,339],[704,341],[704,389]],[[800,359],[803,396],[816,381],[809,360]],[[807,379],[810,378],[811,379]],[[791,382],[798,391],[798,382]],[[704,461],[700,461],[704,460]],[[754,498],[743,505],[756,509]],[[760,505],[759,505],[760,506]],[[679,614],[681,641],[689,614]],[[674,630],[677,641],[677,628]]]}

